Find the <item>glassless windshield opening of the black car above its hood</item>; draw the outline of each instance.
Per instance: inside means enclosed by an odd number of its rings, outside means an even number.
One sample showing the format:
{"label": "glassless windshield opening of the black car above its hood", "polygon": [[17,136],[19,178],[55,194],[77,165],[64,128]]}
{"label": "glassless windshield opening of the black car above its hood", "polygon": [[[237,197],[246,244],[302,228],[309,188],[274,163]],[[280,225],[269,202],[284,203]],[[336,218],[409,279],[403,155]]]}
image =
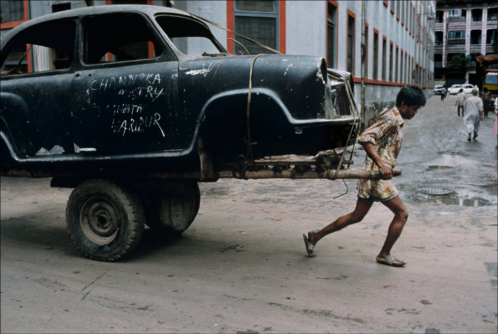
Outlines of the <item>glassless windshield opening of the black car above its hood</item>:
{"label": "glassless windshield opening of the black car above its hood", "polygon": [[155,20],[183,54],[217,55],[226,53],[216,42],[209,29],[196,20],[171,15],[160,15]]}

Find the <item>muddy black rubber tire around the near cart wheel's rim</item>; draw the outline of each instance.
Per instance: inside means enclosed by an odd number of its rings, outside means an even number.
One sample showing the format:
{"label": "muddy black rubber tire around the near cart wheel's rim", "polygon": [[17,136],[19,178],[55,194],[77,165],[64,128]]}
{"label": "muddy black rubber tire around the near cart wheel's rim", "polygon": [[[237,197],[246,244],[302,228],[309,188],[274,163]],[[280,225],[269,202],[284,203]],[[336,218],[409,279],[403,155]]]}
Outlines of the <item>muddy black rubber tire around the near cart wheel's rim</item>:
{"label": "muddy black rubber tire around the near cart wheel's rim", "polygon": [[[100,200],[109,208],[114,208],[116,231],[109,241],[95,242],[84,230],[88,223],[82,217],[87,203]],[[95,205],[94,205],[95,206]],[[143,233],[145,214],[141,201],[134,190],[102,179],[91,179],[80,183],[72,191],[66,206],[66,223],[69,237],[79,251],[89,259],[116,261],[132,252]],[[99,238],[99,236],[96,236]]]}

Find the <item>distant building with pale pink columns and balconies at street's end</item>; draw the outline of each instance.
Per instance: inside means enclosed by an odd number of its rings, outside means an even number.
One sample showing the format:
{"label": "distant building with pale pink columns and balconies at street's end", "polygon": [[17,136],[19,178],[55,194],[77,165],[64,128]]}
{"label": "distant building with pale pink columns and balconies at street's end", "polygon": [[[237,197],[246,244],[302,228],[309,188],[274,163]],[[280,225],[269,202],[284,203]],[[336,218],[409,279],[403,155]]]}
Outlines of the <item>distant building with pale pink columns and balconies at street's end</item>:
{"label": "distant building with pale pink columns and balconies at street's end", "polygon": [[497,53],[497,27],[495,1],[436,1],[436,81],[480,86],[475,57]]}

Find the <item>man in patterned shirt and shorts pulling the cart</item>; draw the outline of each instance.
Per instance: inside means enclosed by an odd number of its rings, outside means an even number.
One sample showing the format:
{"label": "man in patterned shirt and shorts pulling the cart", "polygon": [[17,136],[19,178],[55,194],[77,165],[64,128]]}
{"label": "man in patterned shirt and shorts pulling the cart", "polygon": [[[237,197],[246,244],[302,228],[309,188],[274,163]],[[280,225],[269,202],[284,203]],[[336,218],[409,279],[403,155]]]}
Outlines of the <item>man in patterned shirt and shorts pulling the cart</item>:
{"label": "man in patterned shirt and shorts pulling the cart", "polygon": [[363,146],[367,153],[362,170],[379,171],[381,180],[358,180],[356,187],[358,200],[353,212],[337,218],[321,230],[309,231],[307,236],[303,234],[306,253],[310,257],[316,256],[313,248],[318,240],[327,234],[360,222],[374,202],[381,202],[394,213],[394,218],[389,225],[386,240],[376,261],[393,267],[401,267],[406,264],[391,255],[391,248],[403,230],[408,218],[408,211],[390,179],[401,149],[404,119],[408,120],[417,115],[419,109],[425,104],[426,97],[422,89],[407,85],[399,91],[396,97],[396,106],[384,113],[377,123],[358,137],[358,143]]}

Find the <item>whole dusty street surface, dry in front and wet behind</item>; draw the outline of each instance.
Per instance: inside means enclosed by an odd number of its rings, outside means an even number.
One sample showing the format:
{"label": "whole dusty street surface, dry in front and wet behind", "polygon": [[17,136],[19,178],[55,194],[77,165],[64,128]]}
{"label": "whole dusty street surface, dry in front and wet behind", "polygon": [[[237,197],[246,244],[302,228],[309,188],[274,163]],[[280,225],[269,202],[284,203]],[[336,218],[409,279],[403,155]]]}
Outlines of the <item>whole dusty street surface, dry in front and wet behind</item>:
{"label": "whole dusty street surface, dry in front and wet behind", "polygon": [[[497,177],[493,115],[467,142],[454,97],[404,129],[394,179],[410,212],[393,248],[405,268],[375,263],[391,213],[305,256],[301,234],[352,210],[355,181],[220,180],[175,240],[150,229],[133,256],[103,263],[71,243],[70,189],[48,179],[1,180],[4,332],[497,331]],[[364,152],[354,149],[356,168]],[[448,189],[445,196],[427,195]]]}

